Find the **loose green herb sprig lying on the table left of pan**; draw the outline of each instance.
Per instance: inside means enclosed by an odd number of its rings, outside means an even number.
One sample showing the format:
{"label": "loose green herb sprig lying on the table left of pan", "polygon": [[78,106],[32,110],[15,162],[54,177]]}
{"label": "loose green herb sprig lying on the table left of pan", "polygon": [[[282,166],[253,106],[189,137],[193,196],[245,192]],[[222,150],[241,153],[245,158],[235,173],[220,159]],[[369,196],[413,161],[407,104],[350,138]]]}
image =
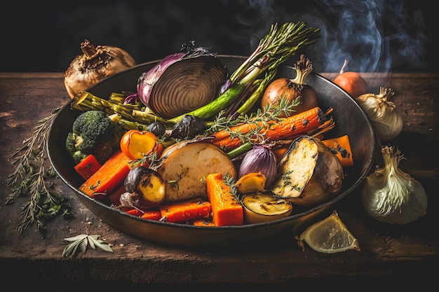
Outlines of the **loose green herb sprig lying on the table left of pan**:
{"label": "loose green herb sprig lying on the table left of pan", "polygon": [[22,205],[17,226],[20,233],[35,222],[39,231],[45,232],[46,222],[51,218],[58,214],[70,215],[65,198],[51,189],[53,183],[49,180],[56,178],[57,174],[48,162],[48,131],[59,110],[53,109],[50,116],[39,120],[32,136],[25,139],[23,146],[11,155],[11,164],[17,167],[5,180],[6,185],[12,189],[12,193],[6,197],[6,204],[15,202],[16,197],[29,195],[29,200]]}

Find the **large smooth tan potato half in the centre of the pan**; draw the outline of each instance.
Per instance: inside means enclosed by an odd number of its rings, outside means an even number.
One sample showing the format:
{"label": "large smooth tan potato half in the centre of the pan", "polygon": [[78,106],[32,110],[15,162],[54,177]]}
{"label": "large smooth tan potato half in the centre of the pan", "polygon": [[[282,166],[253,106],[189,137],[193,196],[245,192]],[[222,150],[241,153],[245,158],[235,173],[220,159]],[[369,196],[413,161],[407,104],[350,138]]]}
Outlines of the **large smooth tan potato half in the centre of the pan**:
{"label": "large smooth tan potato half in the centre of the pan", "polygon": [[165,202],[207,197],[208,174],[228,174],[236,179],[236,167],[226,153],[205,141],[181,141],[166,148],[156,169],[166,181]]}

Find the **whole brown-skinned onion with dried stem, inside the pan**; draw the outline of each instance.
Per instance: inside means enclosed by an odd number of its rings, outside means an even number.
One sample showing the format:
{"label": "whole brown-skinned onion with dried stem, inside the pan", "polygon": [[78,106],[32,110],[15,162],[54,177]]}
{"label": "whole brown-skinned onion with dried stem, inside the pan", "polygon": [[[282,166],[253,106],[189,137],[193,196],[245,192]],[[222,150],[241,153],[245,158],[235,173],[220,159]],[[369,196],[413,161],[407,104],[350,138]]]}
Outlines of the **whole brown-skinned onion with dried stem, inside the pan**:
{"label": "whole brown-skinned onion with dried stem, inside the pan", "polygon": [[297,103],[294,109],[285,116],[302,113],[318,106],[316,90],[305,83],[306,76],[313,70],[311,61],[302,54],[295,64],[295,70],[297,75],[294,79],[278,78],[267,86],[261,98],[262,111],[266,106],[278,105],[281,99],[285,99],[289,104]]}

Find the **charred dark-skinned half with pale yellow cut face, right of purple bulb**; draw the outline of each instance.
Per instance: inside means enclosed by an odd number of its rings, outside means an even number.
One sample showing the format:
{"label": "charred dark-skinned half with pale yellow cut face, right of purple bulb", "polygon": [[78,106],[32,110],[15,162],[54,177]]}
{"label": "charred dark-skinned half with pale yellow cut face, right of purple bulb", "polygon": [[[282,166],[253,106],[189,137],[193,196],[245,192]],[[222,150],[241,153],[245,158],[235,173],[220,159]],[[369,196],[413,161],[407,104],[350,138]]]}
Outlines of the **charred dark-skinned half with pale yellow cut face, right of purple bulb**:
{"label": "charred dark-skinned half with pale yellow cut face, right of purple bulb", "polygon": [[319,204],[342,189],[342,164],[319,139],[309,136],[295,139],[278,167],[281,175],[271,190],[276,197],[293,204]]}

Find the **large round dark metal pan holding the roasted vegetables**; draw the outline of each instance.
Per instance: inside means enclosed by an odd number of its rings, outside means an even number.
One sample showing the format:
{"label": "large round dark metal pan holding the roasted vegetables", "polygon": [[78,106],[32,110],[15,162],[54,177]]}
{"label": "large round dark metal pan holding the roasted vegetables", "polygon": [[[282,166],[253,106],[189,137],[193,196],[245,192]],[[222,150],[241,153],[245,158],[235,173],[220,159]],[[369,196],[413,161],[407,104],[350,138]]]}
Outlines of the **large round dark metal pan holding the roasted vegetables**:
{"label": "large round dark metal pan holding the roasted vegetables", "polygon": [[[218,57],[229,68],[229,71],[236,69],[246,59],[246,57],[229,55],[218,55]],[[109,97],[112,92],[135,92],[139,76],[144,71],[151,69],[157,62],[139,64],[109,76],[93,85],[88,91],[102,98]],[[295,69],[282,66],[278,70],[277,77],[294,78]],[[93,200],[78,190],[83,180],[75,172],[74,165],[72,165],[69,154],[65,150],[67,133],[72,130],[75,118],[81,113],[71,109],[70,102],[57,113],[50,129],[48,137],[49,159],[62,181],[74,190],[90,211],[102,221],[130,235],[151,242],[196,249],[230,249],[231,246],[250,246],[254,242],[276,243],[285,236],[291,236],[293,230],[299,230],[311,218],[316,218],[323,212],[332,211],[336,202],[352,193],[362,183],[374,164],[377,148],[376,138],[372,124],[363,109],[344,90],[323,76],[311,73],[306,78],[306,83],[318,93],[319,106],[323,111],[329,107],[335,109],[333,118],[336,127],[327,133],[330,136],[326,137],[349,135],[354,166],[346,169],[343,188],[332,200],[315,207],[295,207],[291,216],[278,221],[226,227],[184,225],[144,220],[119,209],[114,209],[109,204]]]}

